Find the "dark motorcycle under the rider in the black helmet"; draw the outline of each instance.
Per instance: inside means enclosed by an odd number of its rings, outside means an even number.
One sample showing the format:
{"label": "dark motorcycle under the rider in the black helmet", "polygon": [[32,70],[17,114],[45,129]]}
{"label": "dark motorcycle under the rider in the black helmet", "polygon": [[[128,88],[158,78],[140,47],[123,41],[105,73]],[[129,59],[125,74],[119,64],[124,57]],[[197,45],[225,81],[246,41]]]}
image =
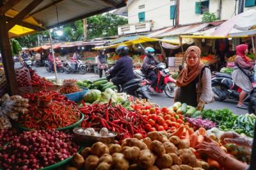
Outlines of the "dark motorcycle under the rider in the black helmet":
{"label": "dark motorcycle under the rider in the black helmet", "polygon": [[[106,78],[110,81],[113,78],[113,75],[109,71],[113,69],[113,66],[109,68],[106,72]],[[128,95],[145,98],[146,100],[150,99],[148,95],[147,88],[145,87],[145,81],[143,79],[132,79],[131,81],[125,82],[124,84],[118,86],[118,92],[127,93]]]}

